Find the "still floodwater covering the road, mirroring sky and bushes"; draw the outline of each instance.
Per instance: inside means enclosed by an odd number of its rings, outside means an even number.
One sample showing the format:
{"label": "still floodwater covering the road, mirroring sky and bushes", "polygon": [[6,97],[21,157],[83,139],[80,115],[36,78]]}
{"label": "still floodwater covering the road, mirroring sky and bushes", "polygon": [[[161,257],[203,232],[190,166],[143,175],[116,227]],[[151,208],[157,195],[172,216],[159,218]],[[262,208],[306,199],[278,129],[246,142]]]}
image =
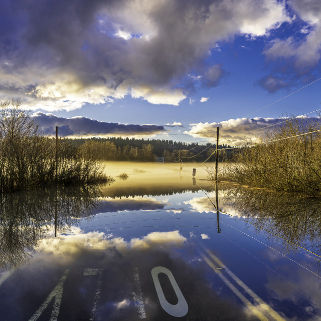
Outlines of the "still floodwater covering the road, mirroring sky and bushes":
{"label": "still floodwater covering the road, mirroring sky and bushes", "polygon": [[0,320],[320,320],[320,200],[198,165],[1,196]]}

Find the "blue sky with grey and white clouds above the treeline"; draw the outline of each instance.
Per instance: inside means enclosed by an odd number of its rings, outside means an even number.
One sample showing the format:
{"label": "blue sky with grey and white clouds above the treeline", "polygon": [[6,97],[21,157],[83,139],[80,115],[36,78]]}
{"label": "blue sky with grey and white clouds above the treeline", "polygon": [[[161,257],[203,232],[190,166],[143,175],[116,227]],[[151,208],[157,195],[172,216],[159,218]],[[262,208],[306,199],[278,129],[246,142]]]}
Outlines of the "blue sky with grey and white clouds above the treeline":
{"label": "blue sky with grey and white clouds above the treeline", "polygon": [[203,142],[220,126],[235,144],[313,121],[320,54],[319,0],[0,3],[0,101],[21,98],[49,135]]}

